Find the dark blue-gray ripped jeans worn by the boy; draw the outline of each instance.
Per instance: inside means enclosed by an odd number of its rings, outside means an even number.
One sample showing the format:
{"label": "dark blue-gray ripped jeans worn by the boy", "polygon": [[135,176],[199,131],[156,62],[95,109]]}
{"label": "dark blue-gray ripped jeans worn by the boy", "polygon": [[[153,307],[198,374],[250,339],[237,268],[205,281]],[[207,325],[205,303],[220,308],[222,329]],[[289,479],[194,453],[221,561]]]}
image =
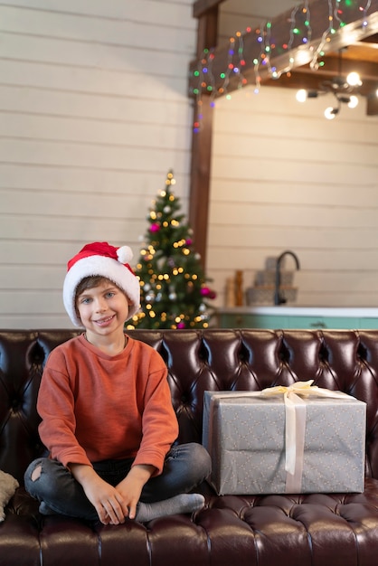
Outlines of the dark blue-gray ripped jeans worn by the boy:
{"label": "dark blue-gray ripped jeans worn by the boy", "polygon": [[[118,486],[128,475],[133,461],[134,458],[104,460],[93,463],[93,468],[111,486]],[[210,471],[210,456],[203,446],[196,443],[175,446],[166,455],[162,474],[146,482],[140,501],[154,503],[189,493],[210,475]],[[37,458],[26,469],[24,482],[29,494],[55,513],[89,521],[99,518],[80,483],[58,460]]]}

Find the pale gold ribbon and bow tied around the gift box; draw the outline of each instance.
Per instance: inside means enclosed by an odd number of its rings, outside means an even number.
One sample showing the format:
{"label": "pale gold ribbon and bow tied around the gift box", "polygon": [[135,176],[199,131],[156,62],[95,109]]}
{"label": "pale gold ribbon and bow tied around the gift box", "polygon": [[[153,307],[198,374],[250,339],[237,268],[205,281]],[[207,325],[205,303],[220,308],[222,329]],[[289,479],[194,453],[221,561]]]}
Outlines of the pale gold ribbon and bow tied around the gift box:
{"label": "pale gold ribbon and bow tied around the gift box", "polygon": [[311,395],[343,398],[348,397],[342,391],[330,391],[312,385],[314,380],[296,382],[285,387],[278,385],[260,391],[262,397],[284,396],[285,403],[285,470],[287,473],[286,492],[300,493],[302,485],[305,454],[305,430],[307,404],[303,397]]}

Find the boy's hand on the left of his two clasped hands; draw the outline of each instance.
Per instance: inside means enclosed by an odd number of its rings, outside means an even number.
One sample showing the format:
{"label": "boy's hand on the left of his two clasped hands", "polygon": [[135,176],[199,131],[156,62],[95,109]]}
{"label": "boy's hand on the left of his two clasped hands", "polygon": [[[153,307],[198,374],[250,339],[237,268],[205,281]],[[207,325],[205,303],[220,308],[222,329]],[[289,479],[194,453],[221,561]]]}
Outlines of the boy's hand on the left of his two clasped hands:
{"label": "boy's hand on the left of his two clasped hands", "polygon": [[96,508],[101,523],[125,523],[128,505],[116,487],[101,479],[90,466],[71,464],[70,469],[72,476],[81,484],[85,495]]}

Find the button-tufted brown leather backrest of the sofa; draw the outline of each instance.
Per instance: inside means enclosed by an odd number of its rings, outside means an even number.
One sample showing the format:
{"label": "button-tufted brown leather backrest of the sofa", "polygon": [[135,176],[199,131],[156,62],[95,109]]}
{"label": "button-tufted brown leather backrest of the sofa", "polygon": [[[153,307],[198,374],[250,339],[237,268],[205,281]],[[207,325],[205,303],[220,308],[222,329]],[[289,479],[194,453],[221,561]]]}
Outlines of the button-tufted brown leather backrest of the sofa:
{"label": "button-tufted brown leather backrest of the sofa", "polygon": [[[23,481],[43,454],[35,410],[43,365],[75,330],[0,331],[0,469]],[[179,442],[202,438],[203,391],[314,380],[367,403],[366,475],[378,478],[378,330],[134,330],[168,367]]]}

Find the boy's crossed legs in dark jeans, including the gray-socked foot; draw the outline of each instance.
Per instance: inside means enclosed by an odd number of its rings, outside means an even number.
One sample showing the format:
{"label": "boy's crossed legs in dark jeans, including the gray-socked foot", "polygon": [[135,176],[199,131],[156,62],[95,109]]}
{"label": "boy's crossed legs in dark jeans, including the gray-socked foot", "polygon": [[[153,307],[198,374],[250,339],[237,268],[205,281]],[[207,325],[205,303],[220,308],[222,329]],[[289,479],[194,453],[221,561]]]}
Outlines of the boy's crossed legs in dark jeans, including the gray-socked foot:
{"label": "boy's crossed legs in dark jeans, including the gray-socked foot", "polygon": [[[127,476],[133,459],[109,460],[93,465],[102,479],[117,486]],[[200,444],[172,448],[160,476],[152,477],[142,490],[136,519],[140,523],[157,517],[193,513],[203,507],[201,494],[188,493],[210,475],[211,460]],[[57,460],[38,458],[25,472],[25,487],[41,502],[42,514],[65,514],[97,520],[98,514],[70,470]]]}

